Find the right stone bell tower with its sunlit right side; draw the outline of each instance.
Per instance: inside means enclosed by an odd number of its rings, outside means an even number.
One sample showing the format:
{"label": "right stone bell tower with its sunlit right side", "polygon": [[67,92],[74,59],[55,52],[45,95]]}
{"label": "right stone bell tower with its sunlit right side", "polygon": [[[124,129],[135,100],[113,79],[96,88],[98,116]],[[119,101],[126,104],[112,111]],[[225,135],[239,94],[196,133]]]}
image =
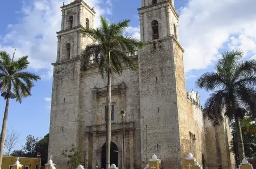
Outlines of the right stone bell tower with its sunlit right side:
{"label": "right stone bell tower with its sunlit right side", "polygon": [[156,154],[164,167],[181,166],[181,119],[186,112],[183,48],[174,0],[141,0],[139,50],[142,165]]}

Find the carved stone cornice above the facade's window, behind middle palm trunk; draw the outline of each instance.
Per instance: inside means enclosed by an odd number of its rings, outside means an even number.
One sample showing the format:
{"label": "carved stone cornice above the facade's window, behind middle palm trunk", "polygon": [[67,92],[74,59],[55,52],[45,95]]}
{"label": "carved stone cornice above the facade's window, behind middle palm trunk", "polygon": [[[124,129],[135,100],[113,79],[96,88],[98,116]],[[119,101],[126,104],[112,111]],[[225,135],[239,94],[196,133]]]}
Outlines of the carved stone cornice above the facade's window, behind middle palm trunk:
{"label": "carved stone cornice above the facade's window, behind middle palm trunk", "polygon": [[[112,85],[111,86],[111,95],[114,94],[125,94],[126,85],[122,82],[120,85]],[[103,88],[94,87],[92,93],[99,97],[103,97],[107,95],[107,86]]]}

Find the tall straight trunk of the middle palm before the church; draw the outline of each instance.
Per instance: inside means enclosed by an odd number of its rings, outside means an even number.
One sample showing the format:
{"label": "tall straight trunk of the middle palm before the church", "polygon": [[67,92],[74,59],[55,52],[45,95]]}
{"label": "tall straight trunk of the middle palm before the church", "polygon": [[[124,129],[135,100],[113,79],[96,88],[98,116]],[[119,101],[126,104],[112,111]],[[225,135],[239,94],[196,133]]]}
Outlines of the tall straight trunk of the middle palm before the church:
{"label": "tall straight trunk of the middle palm before the church", "polygon": [[[108,54],[108,71],[107,71],[107,102],[106,102],[106,169],[110,168],[110,145],[111,145],[111,60],[110,52]],[[1,169],[1,168],[0,168]]]}

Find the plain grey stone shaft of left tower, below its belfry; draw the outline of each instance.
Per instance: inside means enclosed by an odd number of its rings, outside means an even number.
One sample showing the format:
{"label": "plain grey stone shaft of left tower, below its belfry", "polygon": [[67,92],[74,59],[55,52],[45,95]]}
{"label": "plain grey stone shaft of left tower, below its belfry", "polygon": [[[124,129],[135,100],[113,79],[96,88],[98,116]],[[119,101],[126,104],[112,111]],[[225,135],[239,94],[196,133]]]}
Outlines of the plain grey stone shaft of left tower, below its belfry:
{"label": "plain grey stone shaft of left tower, below its belfry", "polygon": [[50,114],[49,154],[60,168],[66,166],[63,151],[77,146],[80,62],[69,61],[54,67]]}

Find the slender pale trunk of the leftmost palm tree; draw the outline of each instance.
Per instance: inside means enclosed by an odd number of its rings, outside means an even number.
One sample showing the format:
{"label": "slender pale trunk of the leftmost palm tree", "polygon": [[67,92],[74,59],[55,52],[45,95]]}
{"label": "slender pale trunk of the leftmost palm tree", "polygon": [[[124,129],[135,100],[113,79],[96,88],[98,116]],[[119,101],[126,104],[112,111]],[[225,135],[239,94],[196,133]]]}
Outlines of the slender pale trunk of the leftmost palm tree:
{"label": "slender pale trunk of the leftmost palm tree", "polygon": [[9,102],[10,102],[10,98],[8,97],[7,100],[6,100],[6,103],[5,103],[4,118],[3,118],[2,132],[1,132],[0,169],[1,169],[1,166],[2,166],[2,160],[3,160],[4,142],[5,142],[6,127],[7,127],[7,117],[8,117]]}

